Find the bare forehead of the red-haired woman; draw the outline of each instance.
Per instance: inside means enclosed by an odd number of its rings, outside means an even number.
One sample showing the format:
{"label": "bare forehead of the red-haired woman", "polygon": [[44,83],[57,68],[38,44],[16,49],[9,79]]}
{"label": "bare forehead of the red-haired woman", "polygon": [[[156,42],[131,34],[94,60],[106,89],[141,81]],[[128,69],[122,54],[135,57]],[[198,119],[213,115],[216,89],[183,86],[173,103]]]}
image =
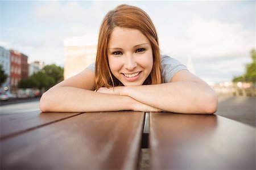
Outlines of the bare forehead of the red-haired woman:
{"label": "bare forehead of the red-haired woman", "polygon": [[110,35],[109,48],[149,43],[141,31],[132,28],[115,27]]}

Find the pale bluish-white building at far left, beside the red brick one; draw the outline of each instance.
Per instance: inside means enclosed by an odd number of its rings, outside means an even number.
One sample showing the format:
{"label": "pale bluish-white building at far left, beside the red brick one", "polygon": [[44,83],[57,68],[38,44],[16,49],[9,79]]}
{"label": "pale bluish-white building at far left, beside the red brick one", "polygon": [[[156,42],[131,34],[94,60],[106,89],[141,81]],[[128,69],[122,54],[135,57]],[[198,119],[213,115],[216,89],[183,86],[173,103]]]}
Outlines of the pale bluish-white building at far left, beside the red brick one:
{"label": "pale bluish-white building at far left, beside the red brick one", "polygon": [[6,82],[2,84],[2,88],[10,89],[10,51],[2,46],[0,46],[0,64],[3,66],[5,74],[8,75]]}

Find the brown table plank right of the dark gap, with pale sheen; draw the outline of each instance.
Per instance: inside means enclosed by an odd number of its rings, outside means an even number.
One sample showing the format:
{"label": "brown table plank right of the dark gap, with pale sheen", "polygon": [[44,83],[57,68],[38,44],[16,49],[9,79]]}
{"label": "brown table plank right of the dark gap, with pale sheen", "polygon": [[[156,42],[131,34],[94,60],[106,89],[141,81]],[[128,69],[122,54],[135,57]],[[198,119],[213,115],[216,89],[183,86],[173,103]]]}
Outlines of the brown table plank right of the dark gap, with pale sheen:
{"label": "brown table plank right of the dark gap, with pale sheen", "polygon": [[255,169],[255,128],[221,116],[150,113],[151,169]]}

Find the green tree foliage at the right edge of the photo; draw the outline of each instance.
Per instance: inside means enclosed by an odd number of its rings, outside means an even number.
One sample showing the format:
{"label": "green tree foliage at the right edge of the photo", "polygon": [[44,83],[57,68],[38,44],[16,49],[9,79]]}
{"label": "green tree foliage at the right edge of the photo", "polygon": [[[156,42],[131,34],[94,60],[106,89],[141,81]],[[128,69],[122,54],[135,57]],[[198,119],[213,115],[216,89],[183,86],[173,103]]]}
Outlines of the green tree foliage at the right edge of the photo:
{"label": "green tree foliage at the right edge of the photo", "polygon": [[253,62],[246,65],[246,73],[242,76],[236,76],[233,82],[251,82],[256,83],[256,52],[255,49],[251,50],[251,59]]}

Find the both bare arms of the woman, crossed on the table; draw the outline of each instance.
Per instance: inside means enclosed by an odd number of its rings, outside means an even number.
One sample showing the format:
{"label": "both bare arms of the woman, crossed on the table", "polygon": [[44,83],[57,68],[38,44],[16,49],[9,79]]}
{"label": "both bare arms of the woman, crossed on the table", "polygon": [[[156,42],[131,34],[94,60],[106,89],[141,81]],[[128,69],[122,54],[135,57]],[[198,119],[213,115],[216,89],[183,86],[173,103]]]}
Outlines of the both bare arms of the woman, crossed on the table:
{"label": "both bare arms of the woman, crossed on the table", "polygon": [[214,113],[217,96],[203,80],[187,70],[170,83],[100,88],[94,92],[94,74],[83,71],[48,90],[40,100],[43,112],[168,111]]}

